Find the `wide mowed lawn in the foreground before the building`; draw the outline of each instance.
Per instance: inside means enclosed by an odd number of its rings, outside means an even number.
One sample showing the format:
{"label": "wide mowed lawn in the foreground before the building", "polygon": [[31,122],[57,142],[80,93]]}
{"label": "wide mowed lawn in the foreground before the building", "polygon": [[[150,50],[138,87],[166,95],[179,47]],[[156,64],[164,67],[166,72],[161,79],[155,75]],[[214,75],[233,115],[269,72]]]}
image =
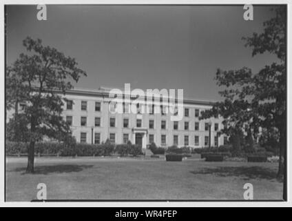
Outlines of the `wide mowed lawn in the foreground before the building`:
{"label": "wide mowed lawn in the foreground before the building", "polygon": [[36,199],[45,183],[48,200],[282,200],[277,163],[165,162],[153,158],[36,157],[25,173],[25,157],[6,157],[6,201]]}

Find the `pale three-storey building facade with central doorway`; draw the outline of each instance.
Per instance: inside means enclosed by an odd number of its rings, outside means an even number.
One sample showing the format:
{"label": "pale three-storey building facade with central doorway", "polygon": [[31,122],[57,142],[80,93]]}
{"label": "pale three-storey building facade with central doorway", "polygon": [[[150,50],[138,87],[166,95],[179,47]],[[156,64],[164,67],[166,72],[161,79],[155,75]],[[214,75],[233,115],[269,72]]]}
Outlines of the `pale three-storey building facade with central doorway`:
{"label": "pale three-storey building facade with central doorway", "polygon": [[[101,144],[110,139],[115,144],[140,144],[146,148],[155,142],[156,146],[189,146],[200,148],[220,146],[225,143],[225,135],[218,136],[222,119],[199,119],[200,113],[211,108],[212,103],[184,99],[183,119],[171,121],[170,114],[130,113],[130,101],[123,99],[123,113],[111,113],[109,90],[74,89],[66,93],[63,117],[72,126],[72,135],[77,142]],[[159,104],[153,104],[161,107]],[[147,104],[146,104],[147,106]],[[138,109],[140,107],[137,107]],[[211,131],[210,131],[211,129]],[[210,139],[211,135],[211,139]]]}

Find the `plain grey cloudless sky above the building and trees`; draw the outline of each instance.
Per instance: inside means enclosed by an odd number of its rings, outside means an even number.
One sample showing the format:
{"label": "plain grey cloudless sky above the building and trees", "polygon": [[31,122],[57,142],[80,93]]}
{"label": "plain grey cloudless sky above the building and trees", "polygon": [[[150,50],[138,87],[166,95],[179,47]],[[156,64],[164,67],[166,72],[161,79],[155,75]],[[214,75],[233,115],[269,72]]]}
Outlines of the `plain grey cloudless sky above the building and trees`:
{"label": "plain grey cloudless sky above the building and trees", "polygon": [[220,100],[217,68],[247,66],[257,72],[275,60],[251,56],[242,37],[262,32],[271,6],[53,6],[47,21],[36,6],[6,7],[6,62],[25,52],[23,39],[42,39],[76,58],[86,71],[77,88],[183,89],[185,97]]}

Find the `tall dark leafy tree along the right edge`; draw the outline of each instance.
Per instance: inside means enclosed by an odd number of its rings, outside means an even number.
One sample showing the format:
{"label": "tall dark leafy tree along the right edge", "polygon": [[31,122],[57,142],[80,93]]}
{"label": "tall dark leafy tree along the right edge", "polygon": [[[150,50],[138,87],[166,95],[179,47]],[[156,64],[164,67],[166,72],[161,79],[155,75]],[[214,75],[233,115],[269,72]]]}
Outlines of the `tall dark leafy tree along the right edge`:
{"label": "tall dark leafy tree along the right edge", "polygon": [[275,61],[258,73],[246,67],[218,69],[215,79],[218,86],[225,87],[220,91],[225,101],[217,102],[203,117],[220,114],[229,130],[247,125],[254,135],[258,128],[275,128],[280,137],[278,177],[282,177],[286,174],[286,6],[273,10],[275,17],[264,22],[262,33],[243,39],[245,46],[252,48],[252,56],[269,52],[275,55]]}

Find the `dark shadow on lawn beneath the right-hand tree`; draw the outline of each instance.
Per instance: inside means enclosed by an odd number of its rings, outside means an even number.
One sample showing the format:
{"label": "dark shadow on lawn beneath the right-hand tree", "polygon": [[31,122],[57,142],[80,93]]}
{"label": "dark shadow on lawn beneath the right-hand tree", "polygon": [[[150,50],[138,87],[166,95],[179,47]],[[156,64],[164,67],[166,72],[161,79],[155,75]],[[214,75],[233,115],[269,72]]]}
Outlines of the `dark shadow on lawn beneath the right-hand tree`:
{"label": "dark shadow on lawn beneath the right-hand tree", "polygon": [[249,179],[276,179],[277,173],[271,169],[260,166],[220,166],[217,168],[204,168],[200,171],[191,171],[197,174],[213,174],[220,177],[242,177],[243,180]]}

